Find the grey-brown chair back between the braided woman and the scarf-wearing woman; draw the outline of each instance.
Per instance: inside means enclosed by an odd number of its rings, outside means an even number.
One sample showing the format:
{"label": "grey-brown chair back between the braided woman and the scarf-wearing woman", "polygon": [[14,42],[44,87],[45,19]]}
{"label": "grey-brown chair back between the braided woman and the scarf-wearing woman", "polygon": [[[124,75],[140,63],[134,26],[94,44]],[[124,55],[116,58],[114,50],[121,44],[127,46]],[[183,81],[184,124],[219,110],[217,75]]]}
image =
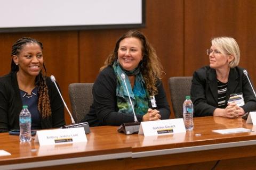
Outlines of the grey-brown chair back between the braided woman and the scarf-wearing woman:
{"label": "grey-brown chair back between the braided woman and the scarf-wearing woman", "polygon": [[71,83],[68,86],[72,116],[76,123],[81,122],[90,111],[93,103],[92,86],[93,83]]}

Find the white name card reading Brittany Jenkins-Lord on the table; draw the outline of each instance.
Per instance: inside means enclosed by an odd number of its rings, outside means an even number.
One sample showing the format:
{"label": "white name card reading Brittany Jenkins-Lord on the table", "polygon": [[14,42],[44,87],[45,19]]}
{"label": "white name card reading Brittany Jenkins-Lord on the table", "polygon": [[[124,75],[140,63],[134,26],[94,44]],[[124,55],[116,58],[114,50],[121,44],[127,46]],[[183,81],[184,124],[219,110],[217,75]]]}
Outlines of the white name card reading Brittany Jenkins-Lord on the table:
{"label": "white name card reading Brittany Jenkins-Lord on the table", "polygon": [[36,131],[35,142],[39,145],[87,142],[84,128],[68,128]]}

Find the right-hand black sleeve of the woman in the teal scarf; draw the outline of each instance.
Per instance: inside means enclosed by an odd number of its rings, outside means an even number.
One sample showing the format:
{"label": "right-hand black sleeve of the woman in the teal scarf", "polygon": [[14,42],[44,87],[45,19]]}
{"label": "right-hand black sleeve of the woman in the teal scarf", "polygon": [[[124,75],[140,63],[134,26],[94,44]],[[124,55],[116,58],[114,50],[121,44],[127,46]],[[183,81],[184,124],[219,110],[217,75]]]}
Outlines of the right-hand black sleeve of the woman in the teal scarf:
{"label": "right-hand black sleeve of the woman in the teal scarf", "polygon": [[156,98],[157,109],[161,115],[161,120],[169,119],[170,107],[167,102],[165,91],[164,91],[163,84],[161,81],[159,81],[157,90],[158,90],[158,94],[155,96],[155,98]]}

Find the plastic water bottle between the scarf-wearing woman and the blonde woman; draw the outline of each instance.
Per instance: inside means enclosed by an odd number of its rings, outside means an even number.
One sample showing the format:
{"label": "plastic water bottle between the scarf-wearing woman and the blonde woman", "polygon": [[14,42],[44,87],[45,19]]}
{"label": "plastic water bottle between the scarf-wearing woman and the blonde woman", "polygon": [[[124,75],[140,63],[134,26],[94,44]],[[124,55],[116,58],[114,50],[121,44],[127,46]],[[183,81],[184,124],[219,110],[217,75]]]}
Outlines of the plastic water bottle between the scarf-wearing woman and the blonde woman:
{"label": "plastic water bottle between the scarf-wearing woman and the blonde woman", "polygon": [[183,121],[187,131],[191,131],[194,129],[193,113],[193,103],[190,100],[190,96],[186,96],[186,100],[183,103]]}

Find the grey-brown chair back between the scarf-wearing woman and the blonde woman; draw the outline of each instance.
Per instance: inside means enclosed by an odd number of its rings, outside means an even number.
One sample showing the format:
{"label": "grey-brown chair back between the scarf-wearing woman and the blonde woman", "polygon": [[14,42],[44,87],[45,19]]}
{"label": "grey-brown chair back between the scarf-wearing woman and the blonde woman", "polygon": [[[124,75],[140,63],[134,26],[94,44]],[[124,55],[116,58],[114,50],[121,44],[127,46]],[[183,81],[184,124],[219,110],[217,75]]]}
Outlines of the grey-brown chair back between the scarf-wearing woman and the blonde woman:
{"label": "grey-brown chair back between the scarf-wearing woman and the blonde woman", "polygon": [[192,77],[172,77],[168,80],[175,118],[183,117],[183,102],[186,96],[190,96],[191,81]]}

